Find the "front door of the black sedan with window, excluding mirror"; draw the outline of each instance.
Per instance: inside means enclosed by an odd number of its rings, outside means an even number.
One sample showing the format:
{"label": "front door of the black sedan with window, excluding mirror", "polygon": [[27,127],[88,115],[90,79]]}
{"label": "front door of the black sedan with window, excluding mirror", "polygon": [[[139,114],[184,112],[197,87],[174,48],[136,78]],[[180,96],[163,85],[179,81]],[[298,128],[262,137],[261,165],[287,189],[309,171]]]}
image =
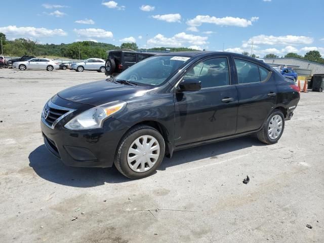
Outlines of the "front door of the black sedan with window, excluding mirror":
{"label": "front door of the black sedan with window, excluding mirror", "polygon": [[203,60],[182,78],[200,80],[201,90],[174,95],[175,145],[235,134],[238,99],[228,57]]}

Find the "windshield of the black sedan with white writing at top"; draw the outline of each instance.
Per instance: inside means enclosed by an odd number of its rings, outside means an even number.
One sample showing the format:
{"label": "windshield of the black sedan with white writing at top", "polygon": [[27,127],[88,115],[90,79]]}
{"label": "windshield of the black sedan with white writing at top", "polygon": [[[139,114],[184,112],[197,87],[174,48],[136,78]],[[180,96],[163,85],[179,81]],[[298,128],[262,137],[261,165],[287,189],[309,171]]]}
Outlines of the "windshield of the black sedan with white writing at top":
{"label": "windshield of the black sedan with white writing at top", "polygon": [[155,56],[131,66],[116,76],[115,80],[125,80],[136,84],[157,86],[165,82],[189,57]]}

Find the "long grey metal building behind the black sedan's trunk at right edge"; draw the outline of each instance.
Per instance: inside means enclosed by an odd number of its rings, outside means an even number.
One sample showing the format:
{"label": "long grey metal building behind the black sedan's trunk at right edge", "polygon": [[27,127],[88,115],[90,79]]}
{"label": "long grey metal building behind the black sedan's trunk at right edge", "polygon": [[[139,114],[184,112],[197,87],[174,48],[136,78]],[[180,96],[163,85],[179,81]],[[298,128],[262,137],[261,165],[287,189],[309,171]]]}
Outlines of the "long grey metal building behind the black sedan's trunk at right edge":
{"label": "long grey metal building behind the black sedan's trunk at right edge", "polygon": [[308,76],[317,73],[324,73],[324,64],[310,62],[298,58],[265,58],[264,62],[269,65],[279,65],[281,67],[292,67],[298,75]]}

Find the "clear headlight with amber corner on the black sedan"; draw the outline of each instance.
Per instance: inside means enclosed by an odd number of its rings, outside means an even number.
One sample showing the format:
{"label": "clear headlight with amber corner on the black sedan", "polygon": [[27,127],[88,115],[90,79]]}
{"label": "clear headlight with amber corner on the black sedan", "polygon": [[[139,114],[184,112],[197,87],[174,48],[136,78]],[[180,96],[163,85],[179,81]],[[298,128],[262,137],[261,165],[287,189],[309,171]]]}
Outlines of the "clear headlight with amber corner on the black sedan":
{"label": "clear headlight with amber corner on the black sedan", "polygon": [[126,104],[124,101],[117,101],[96,106],[75,116],[64,127],[70,130],[102,128],[104,120],[123,110]]}

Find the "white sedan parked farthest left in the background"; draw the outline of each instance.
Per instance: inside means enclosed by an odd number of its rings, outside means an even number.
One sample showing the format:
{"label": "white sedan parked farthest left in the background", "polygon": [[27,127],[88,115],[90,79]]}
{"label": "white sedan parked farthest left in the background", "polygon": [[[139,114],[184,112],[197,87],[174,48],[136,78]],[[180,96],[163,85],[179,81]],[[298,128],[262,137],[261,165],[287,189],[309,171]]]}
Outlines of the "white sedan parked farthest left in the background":
{"label": "white sedan parked farthest left in the background", "polygon": [[13,68],[19,68],[20,70],[26,69],[46,69],[53,71],[53,69],[59,69],[59,63],[51,59],[46,58],[32,58],[24,62],[14,62]]}

